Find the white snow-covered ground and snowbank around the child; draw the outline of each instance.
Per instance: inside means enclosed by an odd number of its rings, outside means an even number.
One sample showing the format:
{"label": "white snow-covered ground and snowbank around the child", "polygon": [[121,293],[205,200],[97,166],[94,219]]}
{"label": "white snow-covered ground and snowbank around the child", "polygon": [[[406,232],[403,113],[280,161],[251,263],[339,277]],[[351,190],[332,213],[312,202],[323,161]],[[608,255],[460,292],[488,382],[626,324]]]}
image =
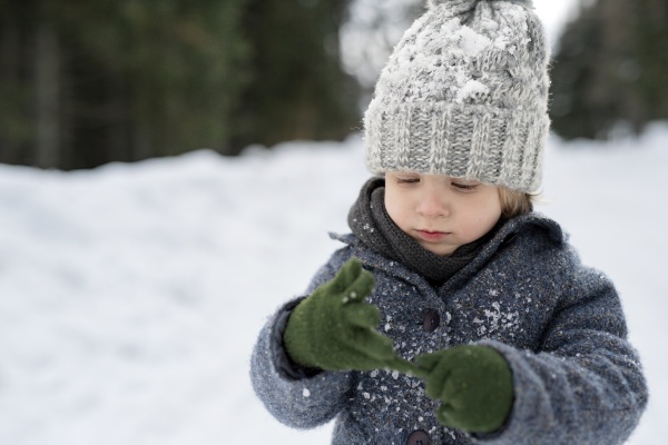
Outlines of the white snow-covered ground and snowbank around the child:
{"label": "white snow-covered ground and snowbank around the child", "polygon": [[[666,443],[668,125],[610,144],[552,138],[544,205],[617,283]],[[346,230],[360,139],[56,172],[0,166],[0,444],[328,442],[291,431],[248,382],[265,317]],[[605,445],[605,444],[602,444]]]}

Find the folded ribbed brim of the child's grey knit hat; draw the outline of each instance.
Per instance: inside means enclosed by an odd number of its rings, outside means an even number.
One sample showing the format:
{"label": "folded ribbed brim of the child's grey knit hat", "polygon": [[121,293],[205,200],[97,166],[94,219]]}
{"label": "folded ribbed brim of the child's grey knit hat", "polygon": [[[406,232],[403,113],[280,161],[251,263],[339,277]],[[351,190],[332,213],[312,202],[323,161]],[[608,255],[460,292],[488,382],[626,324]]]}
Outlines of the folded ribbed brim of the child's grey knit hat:
{"label": "folded ribbed brim of the child's grey knit hat", "polygon": [[527,192],[540,187],[550,128],[546,113],[445,102],[380,106],[374,100],[364,123],[366,167],[374,175],[446,175]]}

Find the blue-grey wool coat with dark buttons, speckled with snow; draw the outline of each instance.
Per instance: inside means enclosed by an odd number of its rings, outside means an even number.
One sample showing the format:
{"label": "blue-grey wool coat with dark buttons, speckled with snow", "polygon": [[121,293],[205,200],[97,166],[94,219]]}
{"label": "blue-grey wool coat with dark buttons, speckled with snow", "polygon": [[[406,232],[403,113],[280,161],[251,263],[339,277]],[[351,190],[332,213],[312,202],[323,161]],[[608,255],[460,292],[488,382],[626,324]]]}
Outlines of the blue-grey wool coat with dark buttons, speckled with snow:
{"label": "blue-grey wool coat with dark buttons, speckled with snow", "polygon": [[379,445],[613,445],[638,424],[647,386],[618,295],[606,276],[580,264],[557,222],[539,214],[509,220],[439,288],[353,235],[337,239],[346,246],[306,295],[358,258],[375,276],[369,300],[381,310],[379,330],[399,355],[489,345],[511,366],[513,408],[501,431],[475,436],[438,423],[438,404],[418,377],[383,369],[295,377],[279,359],[291,303],[259,334],[250,364],[255,392],[279,422],[312,428],[335,418],[333,444]]}

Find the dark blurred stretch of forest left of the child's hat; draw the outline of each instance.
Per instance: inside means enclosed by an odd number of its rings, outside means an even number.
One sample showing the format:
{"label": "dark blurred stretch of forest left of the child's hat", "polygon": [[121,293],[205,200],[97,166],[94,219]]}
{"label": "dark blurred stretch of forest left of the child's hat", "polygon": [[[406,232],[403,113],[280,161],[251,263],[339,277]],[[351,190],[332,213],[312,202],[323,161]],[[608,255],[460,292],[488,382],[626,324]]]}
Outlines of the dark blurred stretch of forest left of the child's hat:
{"label": "dark blurred stretch of forest left of the child's hat", "polygon": [[342,138],[358,120],[338,62],[346,8],[0,0],[0,161],[73,169]]}

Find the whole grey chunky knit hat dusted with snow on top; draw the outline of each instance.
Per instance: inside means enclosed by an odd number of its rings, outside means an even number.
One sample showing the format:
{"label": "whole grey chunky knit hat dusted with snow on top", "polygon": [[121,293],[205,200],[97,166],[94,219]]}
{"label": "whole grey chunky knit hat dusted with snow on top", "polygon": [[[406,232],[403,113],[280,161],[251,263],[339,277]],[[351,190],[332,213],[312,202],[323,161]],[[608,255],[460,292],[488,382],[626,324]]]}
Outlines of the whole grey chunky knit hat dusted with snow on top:
{"label": "whole grey chunky knit hat dusted with snow on top", "polygon": [[530,0],[429,0],[366,110],[367,169],[537,191],[550,127],[549,52]]}

